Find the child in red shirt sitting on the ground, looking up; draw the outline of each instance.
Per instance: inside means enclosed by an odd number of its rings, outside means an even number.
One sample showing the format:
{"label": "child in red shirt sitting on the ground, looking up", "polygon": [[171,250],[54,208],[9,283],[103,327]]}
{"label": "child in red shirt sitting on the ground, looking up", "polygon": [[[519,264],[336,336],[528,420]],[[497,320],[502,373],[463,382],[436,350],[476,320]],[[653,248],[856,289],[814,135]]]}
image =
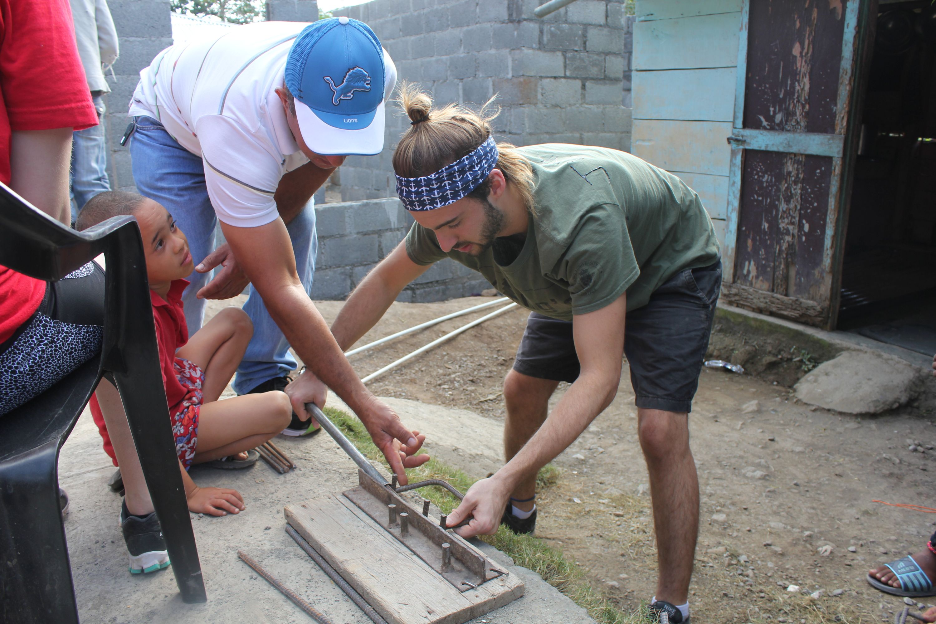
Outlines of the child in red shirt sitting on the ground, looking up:
{"label": "child in red shirt sitting on the ground, looking up", "polygon": [[[81,209],[77,227],[87,229],[118,215],[136,217],[143,239],[168,415],[189,511],[237,514],[244,508],[237,490],[198,487],[187,471],[193,463],[219,459],[247,463],[246,451],[267,442],[289,425],[292,414],[289,398],[284,392],[271,391],[218,400],[240,365],[253,334],[250,319],[237,308],[226,308],[188,338],[181,298],[188,284],[184,278],[193,270],[188,240],[165,208],[135,193],[110,191],[93,197]],[[92,411],[104,435],[106,429],[96,400],[92,401]],[[113,457],[112,450],[109,454]],[[252,459],[256,461],[256,457]],[[131,573],[168,566],[165,548],[154,551],[151,544],[148,552],[134,553],[130,546],[134,540],[128,531],[152,532],[153,527],[148,524],[154,522],[155,517],[129,514],[124,502],[121,525],[131,551]]]}

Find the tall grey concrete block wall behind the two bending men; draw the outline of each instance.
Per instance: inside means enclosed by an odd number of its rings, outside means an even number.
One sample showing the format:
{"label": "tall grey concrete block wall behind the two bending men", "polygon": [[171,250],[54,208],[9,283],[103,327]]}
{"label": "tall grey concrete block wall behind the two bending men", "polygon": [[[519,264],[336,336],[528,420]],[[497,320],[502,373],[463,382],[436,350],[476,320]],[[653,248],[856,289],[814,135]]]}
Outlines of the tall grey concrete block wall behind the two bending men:
{"label": "tall grey concrete block wall behind the two bending men", "polygon": [[[500,94],[495,121],[516,145],[630,149],[633,18],[622,0],[578,0],[547,18],[540,0],[373,0],[333,11],[367,22],[437,104]],[[385,149],[341,167],[344,201],[394,196],[392,151],[409,120],[388,107]]]}

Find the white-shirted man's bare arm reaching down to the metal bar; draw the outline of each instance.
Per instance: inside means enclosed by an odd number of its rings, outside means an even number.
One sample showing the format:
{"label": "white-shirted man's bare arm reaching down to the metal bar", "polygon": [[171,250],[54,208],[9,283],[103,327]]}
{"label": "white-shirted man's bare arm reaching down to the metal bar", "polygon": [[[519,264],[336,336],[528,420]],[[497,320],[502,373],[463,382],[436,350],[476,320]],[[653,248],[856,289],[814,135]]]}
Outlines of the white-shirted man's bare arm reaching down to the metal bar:
{"label": "white-shirted man's bare arm reaching down to the metal bar", "polygon": [[358,414],[373,443],[403,483],[404,467],[414,468],[429,459],[415,456],[422,444],[421,436],[404,428],[400,417],[361,384],[302,287],[283,220],[257,227],[222,223],[221,229],[286,340],[305,365]]}

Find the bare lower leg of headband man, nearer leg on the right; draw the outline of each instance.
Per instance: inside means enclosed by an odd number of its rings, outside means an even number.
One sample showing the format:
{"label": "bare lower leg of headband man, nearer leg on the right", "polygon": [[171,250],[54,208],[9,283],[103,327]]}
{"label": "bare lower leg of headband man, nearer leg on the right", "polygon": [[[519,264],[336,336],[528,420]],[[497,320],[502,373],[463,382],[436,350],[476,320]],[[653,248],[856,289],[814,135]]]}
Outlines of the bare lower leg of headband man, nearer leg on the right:
{"label": "bare lower leg of headband man, nearer leg on the right", "polygon": [[656,598],[684,604],[693,575],[699,484],[687,414],[637,409],[640,446],[650,472],[659,578]]}

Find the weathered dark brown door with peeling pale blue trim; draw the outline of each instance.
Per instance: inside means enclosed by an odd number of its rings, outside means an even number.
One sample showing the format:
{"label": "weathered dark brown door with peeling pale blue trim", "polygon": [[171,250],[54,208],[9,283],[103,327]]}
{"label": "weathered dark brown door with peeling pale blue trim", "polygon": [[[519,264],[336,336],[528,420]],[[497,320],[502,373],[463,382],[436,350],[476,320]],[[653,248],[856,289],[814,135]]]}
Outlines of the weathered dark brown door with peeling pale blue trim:
{"label": "weathered dark brown door with peeling pale blue trim", "polygon": [[850,110],[873,0],[745,3],[725,232],[726,300],[834,324]]}

